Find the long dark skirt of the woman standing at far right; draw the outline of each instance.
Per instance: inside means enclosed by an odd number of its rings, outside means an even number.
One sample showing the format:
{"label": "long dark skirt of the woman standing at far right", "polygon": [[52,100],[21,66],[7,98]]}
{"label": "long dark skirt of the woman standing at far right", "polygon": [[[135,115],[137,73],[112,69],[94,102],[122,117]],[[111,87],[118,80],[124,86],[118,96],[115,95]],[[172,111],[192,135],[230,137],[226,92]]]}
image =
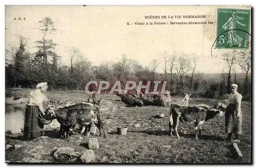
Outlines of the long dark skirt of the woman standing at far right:
{"label": "long dark skirt of the woman standing at far right", "polygon": [[229,104],[226,108],[225,112],[225,132],[226,133],[234,133],[234,134],[242,134],[242,112],[240,117],[237,118],[237,105]]}

